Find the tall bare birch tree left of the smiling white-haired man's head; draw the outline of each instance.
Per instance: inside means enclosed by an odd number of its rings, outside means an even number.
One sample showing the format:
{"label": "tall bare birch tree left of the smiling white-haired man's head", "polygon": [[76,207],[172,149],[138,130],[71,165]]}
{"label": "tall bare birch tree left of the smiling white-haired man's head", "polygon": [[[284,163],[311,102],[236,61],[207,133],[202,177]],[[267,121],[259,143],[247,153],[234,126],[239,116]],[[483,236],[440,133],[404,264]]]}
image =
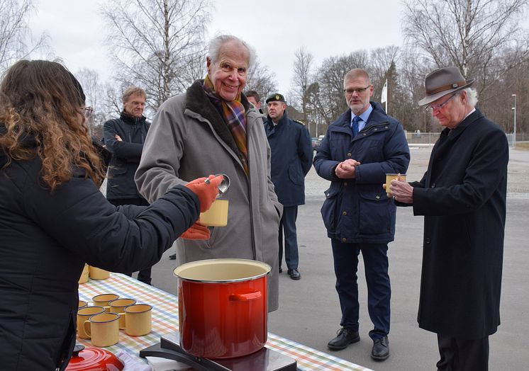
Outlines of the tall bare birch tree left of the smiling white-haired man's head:
{"label": "tall bare birch tree left of the smiling white-haired man's head", "polygon": [[111,0],[101,8],[118,82],[141,86],[156,110],[204,77],[208,0]]}

